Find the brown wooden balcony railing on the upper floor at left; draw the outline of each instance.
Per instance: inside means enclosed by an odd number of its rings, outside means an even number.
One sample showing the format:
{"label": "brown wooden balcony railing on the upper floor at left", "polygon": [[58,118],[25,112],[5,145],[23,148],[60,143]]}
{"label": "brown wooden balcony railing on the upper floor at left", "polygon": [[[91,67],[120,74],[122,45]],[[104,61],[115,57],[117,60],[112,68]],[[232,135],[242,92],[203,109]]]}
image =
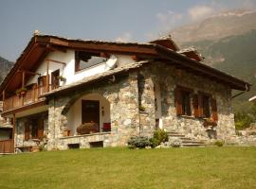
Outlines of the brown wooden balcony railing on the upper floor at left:
{"label": "brown wooden balcony railing on the upper floor at left", "polygon": [[[49,91],[51,87],[49,86]],[[3,111],[8,112],[13,109],[17,109],[29,104],[33,104],[38,101],[44,100],[41,97],[42,94],[46,93],[46,86],[37,86],[30,90],[27,90],[25,94],[15,94],[4,100]]]}

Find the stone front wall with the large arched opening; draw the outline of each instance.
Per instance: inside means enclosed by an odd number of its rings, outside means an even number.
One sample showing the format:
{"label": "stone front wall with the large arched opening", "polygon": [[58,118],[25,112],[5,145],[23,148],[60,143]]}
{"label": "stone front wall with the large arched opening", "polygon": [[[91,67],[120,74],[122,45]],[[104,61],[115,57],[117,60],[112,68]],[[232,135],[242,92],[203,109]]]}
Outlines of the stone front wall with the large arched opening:
{"label": "stone front wall with the large arched opening", "polygon": [[[132,135],[138,134],[137,73],[131,72],[129,76],[116,77],[116,81],[112,83],[101,82],[68,96],[51,98],[48,109],[48,149],[65,149],[67,143],[75,140],[64,139],[63,132],[67,124],[67,112],[82,95],[93,93],[101,94],[110,103],[111,132],[107,135],[109,139],[107,139],[106,146],[124,146]],[[97,135],[94,135],[95,137]],[[82,146],[88,146],[88,140],[81,138],[79,141]]]}

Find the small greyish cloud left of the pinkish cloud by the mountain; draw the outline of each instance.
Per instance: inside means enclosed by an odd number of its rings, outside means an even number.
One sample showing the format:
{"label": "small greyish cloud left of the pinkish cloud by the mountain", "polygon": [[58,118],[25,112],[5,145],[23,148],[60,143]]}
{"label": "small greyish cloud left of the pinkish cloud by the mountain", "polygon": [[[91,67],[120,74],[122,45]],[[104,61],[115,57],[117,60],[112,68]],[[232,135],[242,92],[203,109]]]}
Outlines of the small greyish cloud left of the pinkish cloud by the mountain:
{"label": "small greyish cloud left of the pinkish cloud by the mountain", "polygon": [[175,26],[183,19],[182,13],[176,13],[172,10],[168,10],[167,12],[159,12],[155,15],[155,17],[159,20],[160,24],[168,29],[172,26]]}

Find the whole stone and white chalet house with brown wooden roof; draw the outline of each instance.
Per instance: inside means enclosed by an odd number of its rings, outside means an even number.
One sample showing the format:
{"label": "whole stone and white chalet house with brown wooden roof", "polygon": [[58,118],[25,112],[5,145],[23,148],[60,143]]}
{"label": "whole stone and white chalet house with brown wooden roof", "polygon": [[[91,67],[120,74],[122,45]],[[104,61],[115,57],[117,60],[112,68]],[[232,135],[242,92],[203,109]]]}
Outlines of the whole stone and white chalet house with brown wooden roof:
{"label": "whole stone and white chalet house with brown wooden roof", "polygon": [[[1,83],[2,116],[12,119],[21,150],[43,138],[48,150],[125,146],[158,128],[227,139],[235,134],[231,91],[249,84],[201,61],[171,38],[113,43],[35,34]],[[78,131],[82,124],[87,133]]]}

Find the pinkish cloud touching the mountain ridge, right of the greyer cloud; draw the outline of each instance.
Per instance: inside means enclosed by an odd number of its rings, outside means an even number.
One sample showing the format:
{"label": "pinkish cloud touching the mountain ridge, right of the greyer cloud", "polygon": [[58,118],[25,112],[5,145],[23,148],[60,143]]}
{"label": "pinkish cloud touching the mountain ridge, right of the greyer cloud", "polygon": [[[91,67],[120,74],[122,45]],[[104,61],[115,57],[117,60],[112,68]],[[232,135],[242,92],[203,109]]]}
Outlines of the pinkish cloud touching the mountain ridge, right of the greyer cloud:
{"label": "pinkish cloud touching the mountain ridge, right of the greyer cloud", "polygon": [[215,9],[210,6],[194,6],[188,9],[188,16],[192,21],[199,21],[215,13]]}

